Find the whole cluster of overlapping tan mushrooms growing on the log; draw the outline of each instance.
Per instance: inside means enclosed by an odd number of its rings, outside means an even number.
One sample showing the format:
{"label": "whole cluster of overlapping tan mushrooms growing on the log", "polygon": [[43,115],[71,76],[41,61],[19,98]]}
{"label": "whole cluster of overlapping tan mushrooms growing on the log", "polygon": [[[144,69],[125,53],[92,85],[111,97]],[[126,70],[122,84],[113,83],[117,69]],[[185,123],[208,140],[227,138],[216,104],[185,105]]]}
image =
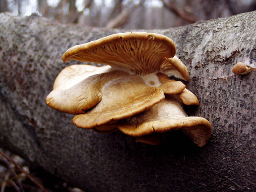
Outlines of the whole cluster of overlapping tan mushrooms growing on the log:
{"label": "whole cluster of overlapping tan mushrooms growing on the log", "polygon": [[181,81],[189,73],[175,56],[172,39],[146,32],[119,33],[68,49],[64,62],[78,60],[104,66],[71,65],[55,79],[46,103],[76,114],[73,123],[97,132],[122,131],[137,142],[159,144],[166,131],[181,129],[194,143],[207,143],[212,128],[201,117],[188,117],[184,105],[199,105]]}

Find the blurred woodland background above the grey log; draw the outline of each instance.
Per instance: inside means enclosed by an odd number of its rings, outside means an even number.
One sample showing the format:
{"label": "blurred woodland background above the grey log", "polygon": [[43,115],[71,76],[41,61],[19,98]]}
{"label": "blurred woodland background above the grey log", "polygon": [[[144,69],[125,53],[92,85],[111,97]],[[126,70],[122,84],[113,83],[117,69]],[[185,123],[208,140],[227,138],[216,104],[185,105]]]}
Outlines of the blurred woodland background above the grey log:
{"label": "blurred woodland background above the grey log", "polygon": [[124,29],[170,28],[253,10],[256,0],[0,0],[0,12]]}

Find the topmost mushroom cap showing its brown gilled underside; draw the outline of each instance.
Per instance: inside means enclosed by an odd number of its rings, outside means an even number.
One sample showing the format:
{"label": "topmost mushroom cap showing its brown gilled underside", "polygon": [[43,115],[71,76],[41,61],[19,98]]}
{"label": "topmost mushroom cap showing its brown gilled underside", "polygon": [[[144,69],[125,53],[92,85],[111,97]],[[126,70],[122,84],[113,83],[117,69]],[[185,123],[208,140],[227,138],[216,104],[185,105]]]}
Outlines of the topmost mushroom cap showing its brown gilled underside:
{"label": "topmost mushroom cap showing its brown gilled underside", "polygon": [[164,35],[126,32],[75,45],[63,54],[62,60],[102,63],[135,74],[149,74],[160,71],[163,61],[175,54],[175,44]]}

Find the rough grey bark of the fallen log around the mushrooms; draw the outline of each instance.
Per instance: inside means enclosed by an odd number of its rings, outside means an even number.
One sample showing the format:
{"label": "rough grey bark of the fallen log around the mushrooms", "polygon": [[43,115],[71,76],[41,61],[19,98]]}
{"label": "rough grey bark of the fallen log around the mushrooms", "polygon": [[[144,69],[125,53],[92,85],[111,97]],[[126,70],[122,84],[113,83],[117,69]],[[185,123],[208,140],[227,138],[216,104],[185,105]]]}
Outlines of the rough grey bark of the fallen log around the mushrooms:
{"label": "rough grey bark of the fallen log around the mushrooms", "polygon": [[200,106],[189,115],[212,123],[203,148],[181,131],[150,146],[78,129],[45,104],[60,70],[77,63],[62,53],[117,32],[0,14],[0,146],[86,191],[256,190],[256,73],[231,72],[238,61],[256,67],[256,12],[153,30],[174,40],[190,72]]}

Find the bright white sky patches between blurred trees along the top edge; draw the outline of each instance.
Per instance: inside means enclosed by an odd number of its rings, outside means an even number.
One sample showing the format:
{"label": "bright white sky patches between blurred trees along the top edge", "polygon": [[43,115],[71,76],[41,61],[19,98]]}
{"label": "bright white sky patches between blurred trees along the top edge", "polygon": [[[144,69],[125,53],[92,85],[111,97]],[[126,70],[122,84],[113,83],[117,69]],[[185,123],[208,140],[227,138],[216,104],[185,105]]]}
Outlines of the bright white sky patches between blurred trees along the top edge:
{"label": "bright white sky patches between blurred trees along the top edge", "polygon": [[[13,0],[8,0],[8,1],[9,1],[10,8],[15,10],[13,14],[18,14],[16,5],[13,3],[14,1]],[[105,3],[105,6],[107,6],[107,7],[113,6],[113,0],[94,0],[94,1],[98,6],[100,6],[101,4],[104,4],[104,3]],[[124,4],[125,4],[125,1],[127,1],[127,0],[124,0]],[[58,2],[59,2],[59,0],[47,0],[47,3],[53,7],[55,7],[58,4]],[[134,0],[134,2],[138,3],[139,0]],[[161,7],[162,5],[163,4],[162,4],[161,0],[146,0],[146,2],[145,2],[145,6]],[[83,9],[83,0],[76,0],[76,6],[77,6],[78,10],[82,10]],[[37,0],[24,0],[24,3],[22,4],[21,12],[26,16],[29,16],[32,13],[38,13],[37,12]]]}

